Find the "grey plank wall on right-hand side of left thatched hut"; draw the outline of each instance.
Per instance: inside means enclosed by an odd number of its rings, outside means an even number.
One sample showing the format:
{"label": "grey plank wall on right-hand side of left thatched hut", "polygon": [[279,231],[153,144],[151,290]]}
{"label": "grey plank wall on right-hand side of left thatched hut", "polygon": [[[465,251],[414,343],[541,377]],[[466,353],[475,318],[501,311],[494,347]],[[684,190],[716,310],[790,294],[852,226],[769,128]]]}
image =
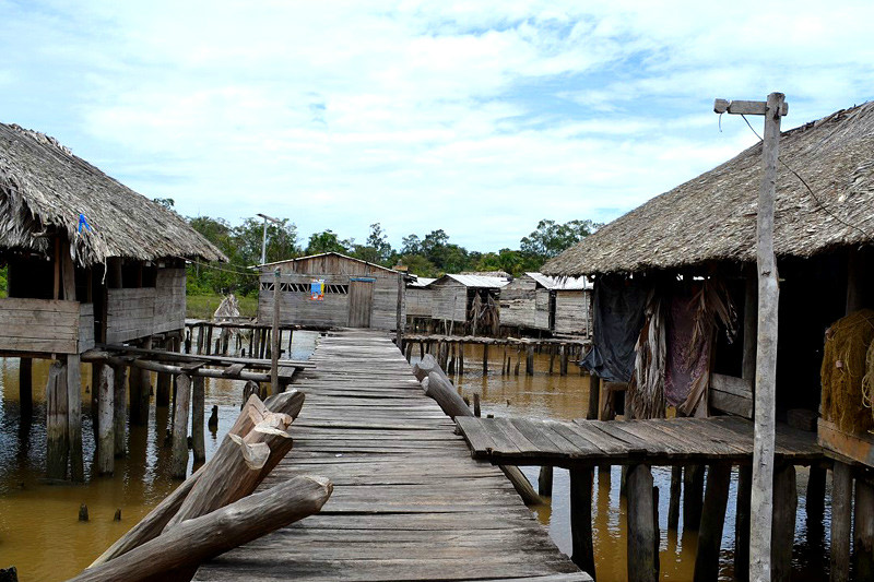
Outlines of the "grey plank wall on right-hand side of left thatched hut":
{"label": "grey plank wall on right-hand side of left thatched hut", "polygon": [[185,270],[158,269],[155,287],[107,289],[106,343],[185,328]]}

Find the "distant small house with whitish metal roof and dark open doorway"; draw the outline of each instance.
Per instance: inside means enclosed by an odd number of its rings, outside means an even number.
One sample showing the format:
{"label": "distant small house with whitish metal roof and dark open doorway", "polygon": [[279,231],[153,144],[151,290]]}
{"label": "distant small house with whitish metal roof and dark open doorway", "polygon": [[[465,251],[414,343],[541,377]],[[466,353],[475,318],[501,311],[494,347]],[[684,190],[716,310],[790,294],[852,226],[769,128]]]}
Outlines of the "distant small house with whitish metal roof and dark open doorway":
{"label": "distant small house with whitish metal roof and dark open doorway", "polygon": [[434,289],[432,318],[445,322],[453,332],[496,334],[498,297],[508,283],[504,276],[444,275],[428,285]]}

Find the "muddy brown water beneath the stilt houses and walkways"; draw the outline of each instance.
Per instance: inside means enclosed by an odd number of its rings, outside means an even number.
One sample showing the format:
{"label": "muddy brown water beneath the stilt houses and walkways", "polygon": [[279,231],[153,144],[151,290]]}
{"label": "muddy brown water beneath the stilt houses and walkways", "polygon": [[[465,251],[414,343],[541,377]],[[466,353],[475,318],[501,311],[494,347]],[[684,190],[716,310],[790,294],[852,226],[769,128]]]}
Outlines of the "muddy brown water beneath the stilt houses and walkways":
{"label": "muddy brown water beneath the stilt houses and walkways", "polygon": [[[318,335],[296,332],[292,357],[306,359]],[[417,349],[413,351],[417,354]],[[501,376],[500,363],[491,366],[487,378],[482,375],[481,348],[465,349],[465,375],[456,383],[465,395],[479,391],[483,415],[531,416],[571,419],[586,414],[588,378],[579,376],[576,366],[569,375],[550,376],[548,356],[535,356],[535,375]],[[413,360],[415,361],[415,359]],[[515,360],[513,360],[515,364]],[[524,368],[524,366],[522,366]],[[556,363],[556,370],[558,369]],[[111,477],[92,475],[94,435],[91,423],[91,373],[83,367],[83,441],[86,483],[54,485],[42,478],[45,450],[45,387],[47,361],[34,361],[34,418],[22,426],[19,416],[19,361],[0,358],[0,568],[15,566],[21,582],[66,580],[93,561],[113,542],[157,504],[178,482],[169,477],[170,451],[163,446],[169,426],[167,411],[151,409],[149,427],[131,427],[129,454],[116,460]],[[153,382],[154,384],[154,382]],[[215,451],[239,413],[243,384],[228,380],[206,380],[206,409],[218,406],[218,430],[206,433],[208,458]],[[161,427],[156,430],[155,427]],[[522,467],[536,485],[539,467]],[[799,511],[793,554],[793,580],[823,580],[828,551],[830,492],[826,499],[826,523],[814,524],[807,539],[805,522],[806,471],[799,468]],[[619,467],[597,472],[595,498],[592,501],[595,568],[600,582],[626,579],[625,501],[619,497]],[[568,514],[568,473],[556,468],[550,504],[534,508],[538,519],[566,554],[570,554]],[[668,490],[670,468],[653,467],[654,485],[660,489],[661,572],[662,580],[692,580],[697,535],[669,532]],[[736,474],[732,478],[727,523],[720,557],[721,580],[732,580],[734,545],[734,498]],[[86,503],[90,521],[79,522],[79,507]],[[113,521],[121,509],[120,522]],[[682,516],[681,516],[682,523]],[[682,526],[681,526],[682,527]]]}

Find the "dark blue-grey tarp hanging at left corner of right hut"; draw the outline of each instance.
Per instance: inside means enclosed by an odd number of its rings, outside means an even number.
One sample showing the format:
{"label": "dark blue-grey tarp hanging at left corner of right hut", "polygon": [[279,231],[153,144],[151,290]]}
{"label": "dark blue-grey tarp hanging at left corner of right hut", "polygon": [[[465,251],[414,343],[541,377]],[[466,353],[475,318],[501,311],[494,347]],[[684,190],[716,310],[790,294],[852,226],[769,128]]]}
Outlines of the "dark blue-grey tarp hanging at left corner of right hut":
{"label": "dark blue-grey tarp hanging at left corner of right hut", "polygon": [[598,277],[594,282],[592,349],[580,363],[607,382],[628,382],[635,368],[635,345],[643,328],[647,289],[631,278]]}

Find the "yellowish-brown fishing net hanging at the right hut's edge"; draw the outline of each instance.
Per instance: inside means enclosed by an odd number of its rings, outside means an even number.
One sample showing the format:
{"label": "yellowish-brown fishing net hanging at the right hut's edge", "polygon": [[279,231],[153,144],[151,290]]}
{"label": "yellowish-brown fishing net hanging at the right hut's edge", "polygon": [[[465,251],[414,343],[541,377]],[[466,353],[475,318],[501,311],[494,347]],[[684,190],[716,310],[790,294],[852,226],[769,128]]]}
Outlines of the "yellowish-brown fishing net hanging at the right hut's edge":
{"label": "yellowish-brown fishing net hanging at the right hut's edge", "polygon": [[[874,427],[871,385],[874,380],[874,310],[839,319],[826,331],[823,355],[823,418],[848,433]],[[866,387],[866,388],[863,388]]]}

